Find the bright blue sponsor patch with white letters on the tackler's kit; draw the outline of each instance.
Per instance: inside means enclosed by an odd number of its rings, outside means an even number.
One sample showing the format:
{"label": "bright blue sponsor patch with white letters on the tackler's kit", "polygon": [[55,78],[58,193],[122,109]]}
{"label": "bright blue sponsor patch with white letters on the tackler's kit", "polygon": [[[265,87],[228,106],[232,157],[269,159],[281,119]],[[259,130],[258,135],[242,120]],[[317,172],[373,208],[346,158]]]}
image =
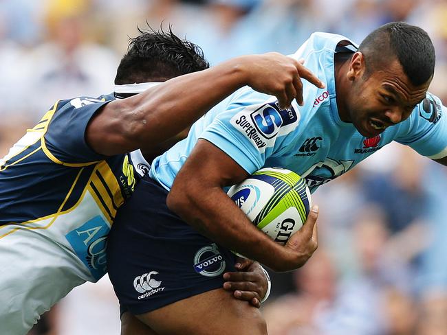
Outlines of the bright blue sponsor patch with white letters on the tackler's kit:
{"label": "bright blue sponsor patch with white letters on the tackler's kit", "polygon": [[109,231],[109,224],[101,216],[95,216],[65,235],[76,255],[96,280],[107,273],[106,248]]}

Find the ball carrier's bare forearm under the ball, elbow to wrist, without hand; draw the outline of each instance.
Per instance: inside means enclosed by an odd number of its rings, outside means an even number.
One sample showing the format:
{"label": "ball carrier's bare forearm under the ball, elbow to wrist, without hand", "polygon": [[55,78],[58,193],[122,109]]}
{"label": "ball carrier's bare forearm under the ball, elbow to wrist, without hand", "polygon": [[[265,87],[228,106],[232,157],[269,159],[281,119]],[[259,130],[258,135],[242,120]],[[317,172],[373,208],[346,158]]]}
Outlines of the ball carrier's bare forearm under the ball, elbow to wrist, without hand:
{"label": "ball carrier's bare forearm under the ball, elbow to wrist, without hand", "polygon": [[256,259],[273,270],[293,270],[305,262],[304,259],[301,261],[300,255],[275,243],[254,227],[220,187],[173,187],[167,204],[210,240]]}

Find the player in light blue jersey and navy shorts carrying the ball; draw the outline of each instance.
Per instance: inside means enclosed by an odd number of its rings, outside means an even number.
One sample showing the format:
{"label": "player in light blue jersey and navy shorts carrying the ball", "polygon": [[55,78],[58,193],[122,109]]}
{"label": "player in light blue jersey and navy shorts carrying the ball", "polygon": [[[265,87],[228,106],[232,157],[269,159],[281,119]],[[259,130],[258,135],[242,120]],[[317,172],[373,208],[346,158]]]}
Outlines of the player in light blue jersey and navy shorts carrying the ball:
{"label": "player in light blue jersey and navy shorts carrying the ball", "polygon": [[225,187],[261,167],[285,167],[315,190],[391,141],[447,163],[447,111],[427,93],[435,51],[424,30],[390,23],[360,47],[317,32],[292,57],[304,58],[327,88],[303,82],[305,104],[286,109],[272,96],[239,89],[153,161],[151,178],[111,229],[107,262],[120,303],[160,334],[265,334],[261,315],[238,319],[243,303],[219,288],[229,250],[292,270],[316,249],[308,222],[285,246],[270,240]]}

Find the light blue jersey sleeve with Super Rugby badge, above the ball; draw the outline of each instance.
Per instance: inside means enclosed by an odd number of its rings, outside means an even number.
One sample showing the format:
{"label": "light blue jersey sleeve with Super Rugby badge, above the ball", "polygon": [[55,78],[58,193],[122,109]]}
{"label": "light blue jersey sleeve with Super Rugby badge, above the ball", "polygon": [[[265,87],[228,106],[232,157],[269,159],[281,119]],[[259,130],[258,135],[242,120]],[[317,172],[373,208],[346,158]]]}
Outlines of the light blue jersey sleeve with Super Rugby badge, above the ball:
{"label": "light blue jersey sleeve with Super Rugby badge, above the ball", "polygon": [[283,137],[299,121],[297,104],[279,108],[275,97],[245,88],[235,93],[200,138],[210,141],[234,159],[249,174],[259,170]]}

